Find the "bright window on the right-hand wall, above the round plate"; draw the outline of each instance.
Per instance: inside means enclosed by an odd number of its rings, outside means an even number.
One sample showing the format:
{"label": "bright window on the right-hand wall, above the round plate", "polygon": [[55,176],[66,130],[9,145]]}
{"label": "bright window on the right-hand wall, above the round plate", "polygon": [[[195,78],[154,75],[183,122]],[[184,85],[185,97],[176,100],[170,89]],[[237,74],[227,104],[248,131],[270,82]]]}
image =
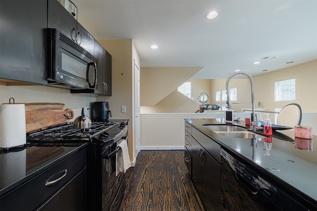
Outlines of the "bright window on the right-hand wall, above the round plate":
{"label": "bright window on the right-hand wall, above the round plate", "polygon": [[295,79],[288,79],[274,83],[275,101],[294,101],[295,96]]}

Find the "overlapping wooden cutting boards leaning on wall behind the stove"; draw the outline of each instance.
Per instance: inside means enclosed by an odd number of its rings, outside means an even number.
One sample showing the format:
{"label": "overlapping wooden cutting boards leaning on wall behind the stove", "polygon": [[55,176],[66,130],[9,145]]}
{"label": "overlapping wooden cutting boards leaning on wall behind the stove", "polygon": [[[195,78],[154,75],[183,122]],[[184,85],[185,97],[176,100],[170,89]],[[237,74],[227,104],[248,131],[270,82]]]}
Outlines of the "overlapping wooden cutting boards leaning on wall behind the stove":
{"label": "overlapping wooden cutting boards leaning on wall behind the stove", "polygon": [[[7,104],[7,103],[6,103]],[[66,123],[74,118],[71,109],[64,110],[63,103],[16,103],[25,104],[26,132]]]}

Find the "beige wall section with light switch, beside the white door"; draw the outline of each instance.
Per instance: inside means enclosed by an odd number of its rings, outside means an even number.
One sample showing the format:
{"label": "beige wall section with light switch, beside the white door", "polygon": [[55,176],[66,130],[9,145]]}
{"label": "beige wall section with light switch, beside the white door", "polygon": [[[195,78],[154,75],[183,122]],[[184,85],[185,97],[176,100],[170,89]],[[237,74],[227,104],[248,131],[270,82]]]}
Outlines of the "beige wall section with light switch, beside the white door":
{"label": "beige wall section with light switch, beside the white door", "polygon": [[[98,96],[97,101],[108,101],[111,119],[129,119],[128,148],[130,161],[136,158],[134,140],[134,59],[140,64],[140,56],[132,40],[99,40],[112,56],[112,96]],[[126,106],[126,113],[121,113]]]}

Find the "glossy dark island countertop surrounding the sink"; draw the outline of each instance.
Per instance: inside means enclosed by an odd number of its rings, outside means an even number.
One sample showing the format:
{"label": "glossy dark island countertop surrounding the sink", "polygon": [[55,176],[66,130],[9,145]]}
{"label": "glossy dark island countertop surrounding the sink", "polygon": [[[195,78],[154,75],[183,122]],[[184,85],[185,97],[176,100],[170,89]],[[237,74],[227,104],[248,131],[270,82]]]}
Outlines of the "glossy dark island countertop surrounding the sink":
{"label": "glossy dark island countertop surrounding the sink", "polygon": [[[238,156],[246,164],[260,170],[276,184],[286,187],[317,207],[317,136],[295,138],[294,130],[273,130],[271,143],[265,138],[226,138],[203,125],[225,124],[224,119],[186,119],[221,147]],[[246,127],[244,121],[234,125]],[[263,134],[263,127],[257,133]],[[301,148],[301,149],[300,149]]]}

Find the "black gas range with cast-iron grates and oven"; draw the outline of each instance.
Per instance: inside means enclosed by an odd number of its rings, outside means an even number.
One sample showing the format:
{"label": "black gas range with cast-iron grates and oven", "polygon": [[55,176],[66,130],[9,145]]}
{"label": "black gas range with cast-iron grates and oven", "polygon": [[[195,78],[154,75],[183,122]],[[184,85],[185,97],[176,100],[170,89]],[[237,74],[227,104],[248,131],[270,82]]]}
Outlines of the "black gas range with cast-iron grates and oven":
{"label": "black gas range with cast-iron grates and oven", "polygon": [[63,123],[27,133],[31,145],[69,146],[87,143],[88,210],[117,210],[125,189],[125,175],[116,172],[117,146],[127,141],[128,120],[92,122],[92,126],[76,129],[73,123]]}

